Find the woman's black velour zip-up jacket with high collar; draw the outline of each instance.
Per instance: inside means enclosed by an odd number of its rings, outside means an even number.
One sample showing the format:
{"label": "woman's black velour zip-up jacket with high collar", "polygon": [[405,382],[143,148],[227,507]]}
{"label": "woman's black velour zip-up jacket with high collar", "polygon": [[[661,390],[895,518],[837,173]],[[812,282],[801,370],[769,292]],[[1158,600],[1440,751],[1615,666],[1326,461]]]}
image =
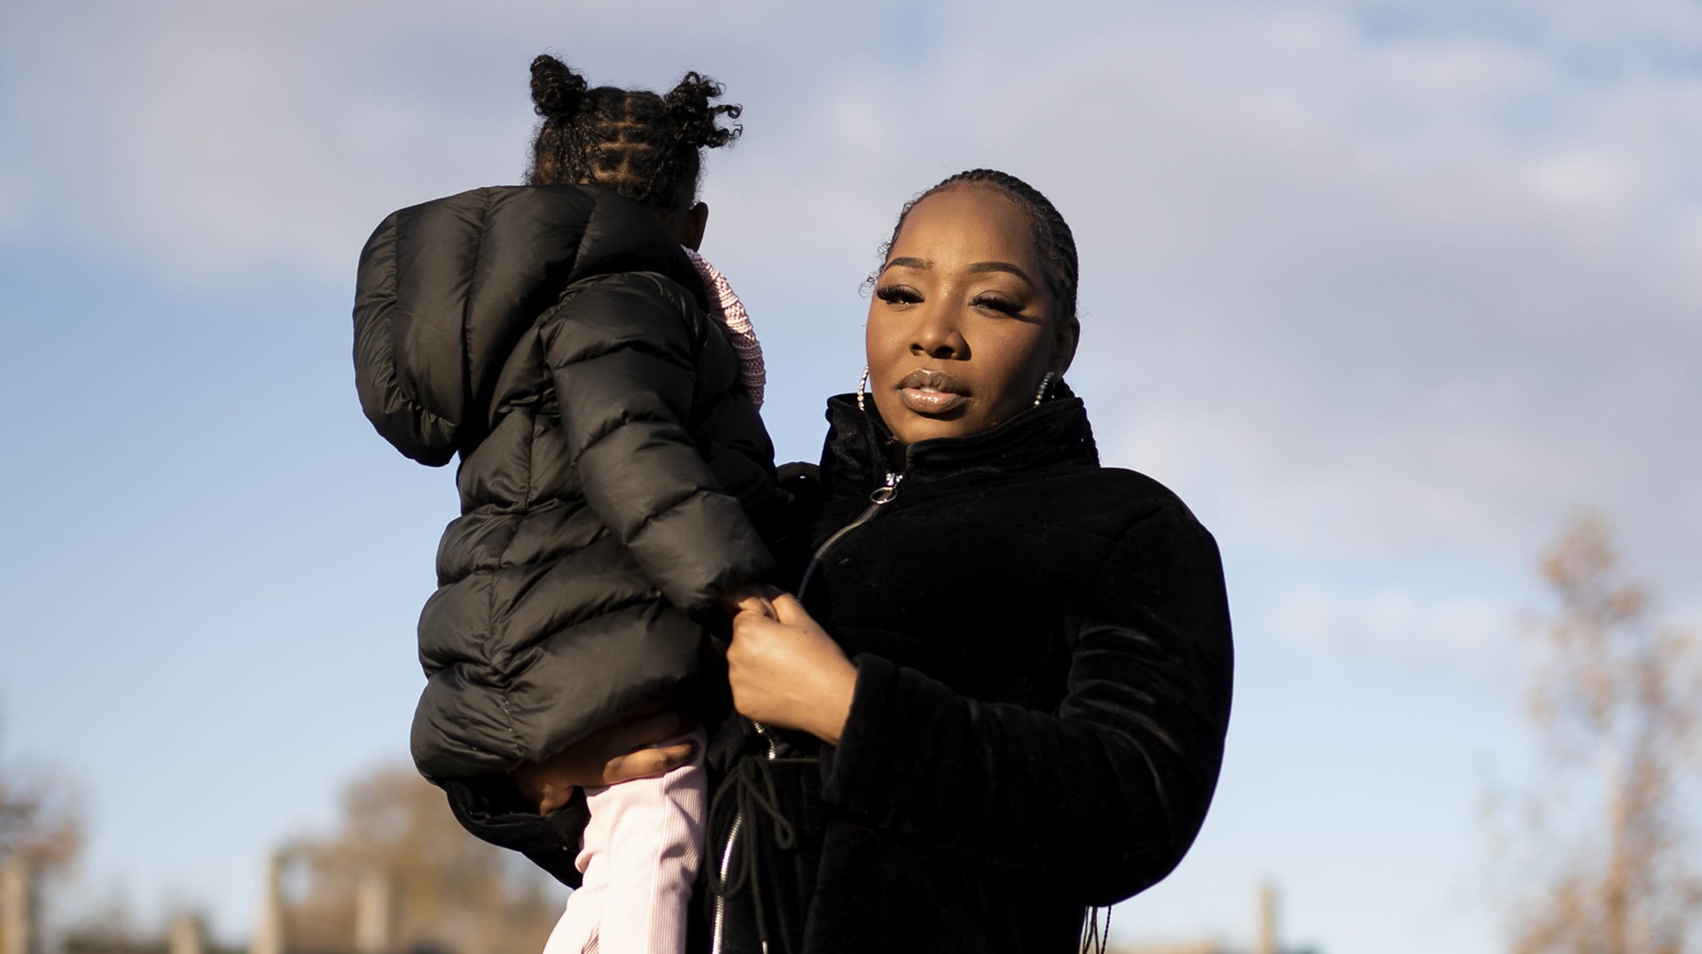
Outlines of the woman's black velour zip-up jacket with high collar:
{"label": "woman's black velour zip-up jacket with high collar", "polygon": [[[1217,544],[1157,481],[1098,464],[1067,391],[897,469],[873,413],[834,398],[829,422],[817,546],[897,481],[803,593],[856,694],[837,748],[785,733],[762,769],[780,818],[744,799],[725,951],[1074,952],[1084,908],[1164,877],[1212,799],[1232,675]],[[725,723],[711,782],[766,762],[761,741]]]}

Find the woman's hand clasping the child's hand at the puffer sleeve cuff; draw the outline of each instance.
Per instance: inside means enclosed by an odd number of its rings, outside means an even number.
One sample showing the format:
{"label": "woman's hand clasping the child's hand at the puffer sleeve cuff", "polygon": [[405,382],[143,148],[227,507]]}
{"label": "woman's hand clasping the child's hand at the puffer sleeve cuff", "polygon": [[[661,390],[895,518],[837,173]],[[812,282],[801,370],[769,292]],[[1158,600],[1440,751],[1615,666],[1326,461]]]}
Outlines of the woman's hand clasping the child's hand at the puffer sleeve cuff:
{"label": "woman's hand clasping the child's hand at the puffer sleeve cuff", "polygon": [[780,593],[768,605],[773,614],[751,605],[734,617],[727,646],[734,707],[749,719],[839,745],[856,667],[797,599]]}

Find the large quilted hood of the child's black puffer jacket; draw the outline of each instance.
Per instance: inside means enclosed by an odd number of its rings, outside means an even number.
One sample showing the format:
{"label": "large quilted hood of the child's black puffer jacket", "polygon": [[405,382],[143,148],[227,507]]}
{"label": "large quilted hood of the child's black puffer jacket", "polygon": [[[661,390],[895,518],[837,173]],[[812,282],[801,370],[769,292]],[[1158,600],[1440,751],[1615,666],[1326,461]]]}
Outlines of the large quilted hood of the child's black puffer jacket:
{"label": "large quilted hood of the child's black puffer jacket", "polygon": [[594,187],[488,187],[391,213],[361,252],[356,388],[378,432],[443,466],[490,429],[514,344],[567,286],[655,272],[703,286],[642,206]]}

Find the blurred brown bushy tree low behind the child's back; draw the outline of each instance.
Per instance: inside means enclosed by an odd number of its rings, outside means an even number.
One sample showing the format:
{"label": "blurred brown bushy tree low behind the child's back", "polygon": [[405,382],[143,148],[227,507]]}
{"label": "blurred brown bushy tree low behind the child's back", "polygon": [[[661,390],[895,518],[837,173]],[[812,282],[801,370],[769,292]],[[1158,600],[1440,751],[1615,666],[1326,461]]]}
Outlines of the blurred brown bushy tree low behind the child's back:
{"label": "blurred brown bushy tree low behind the child's back", "polygon": [[[366,896],[388,922],[376,932],[388,949],[536,954],[567,893],[523,855],[461,830],[443,792],[407,767],[357,779],[340,828],[288,855],[289,951],[349,951],[357,935],[374,937],[373,925],[356,923]],[[374,889],[385,896],[374,900]]]}

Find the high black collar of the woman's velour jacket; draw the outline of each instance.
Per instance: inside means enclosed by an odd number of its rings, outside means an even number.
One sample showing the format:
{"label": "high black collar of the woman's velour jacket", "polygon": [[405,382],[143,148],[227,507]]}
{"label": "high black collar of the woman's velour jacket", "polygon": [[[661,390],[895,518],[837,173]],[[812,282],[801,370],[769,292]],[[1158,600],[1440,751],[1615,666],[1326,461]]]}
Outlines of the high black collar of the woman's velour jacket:
{"label": "high black collar of the woman's velour jacket", "polygon": [[[897,461],[897,440],[873,401],[858,410],[853,395],[827,400],[827,444],[822,474],[827,493],[863,495],[883,483]],[[1055,396],[1011,420],[968,437],[940,437],[904,447],[909,485],[953,476],[1008,476],[1060,464],[1098,466],[1088,408],[1065,384]]]}

